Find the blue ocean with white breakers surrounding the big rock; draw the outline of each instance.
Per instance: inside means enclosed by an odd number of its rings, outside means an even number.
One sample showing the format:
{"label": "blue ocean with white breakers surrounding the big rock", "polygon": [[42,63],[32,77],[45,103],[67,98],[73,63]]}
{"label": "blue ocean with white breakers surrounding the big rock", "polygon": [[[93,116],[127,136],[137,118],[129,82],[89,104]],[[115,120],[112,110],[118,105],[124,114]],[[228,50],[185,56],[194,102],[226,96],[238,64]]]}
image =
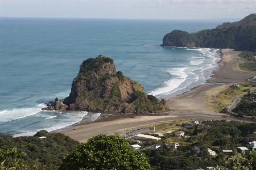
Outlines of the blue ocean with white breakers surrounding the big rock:
{"label": "blue ocean with white breakers surrounding the big rock", "polygon": [[206,83],[218,49],[162,47],[174,29],[197,32],[234,20],[0,18],[0,132],[34,135],[111,113],[41,111],[71,92],[82,61],[102,54],[159,99]]}

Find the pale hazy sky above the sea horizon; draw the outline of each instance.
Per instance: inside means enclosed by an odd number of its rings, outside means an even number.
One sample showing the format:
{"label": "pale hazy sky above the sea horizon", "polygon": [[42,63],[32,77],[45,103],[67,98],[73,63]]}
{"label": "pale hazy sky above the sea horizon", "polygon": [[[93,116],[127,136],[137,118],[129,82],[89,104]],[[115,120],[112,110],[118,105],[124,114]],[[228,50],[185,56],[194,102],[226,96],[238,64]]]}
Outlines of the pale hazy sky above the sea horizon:
{"label": "pale hazy sky above the sea horizon", "polygon": [[220,19],[256,13],[256,0],[5,1],[0,17]]}

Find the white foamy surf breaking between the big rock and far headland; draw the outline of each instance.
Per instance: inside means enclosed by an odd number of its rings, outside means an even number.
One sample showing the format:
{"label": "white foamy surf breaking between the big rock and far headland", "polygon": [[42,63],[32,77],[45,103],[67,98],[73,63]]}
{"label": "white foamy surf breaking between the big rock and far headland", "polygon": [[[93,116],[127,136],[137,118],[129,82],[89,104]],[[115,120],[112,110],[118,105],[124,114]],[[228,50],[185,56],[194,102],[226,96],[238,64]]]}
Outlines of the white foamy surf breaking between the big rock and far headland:
{"label": "white foamy surf breaking between the big rock and far headland", "polygon": [[[218,66],[217,61],[220,59],[220,57],[217,57],[216,53],[218,49],[187,48],[186,50],[195,50],[201,54],[199,54],[198,57],[191,56],[188,58],[189,65],[185,70],[169,69],[174,72],[171,73],[169,70],[167,72],[174,76],[172,76],[170,80],[164,81],[162,87],[151,91],[149,94],[164,99],[170,97],[170,94],[179,95],[179,92],[182,93],[192,87],[204,84],[206,80],[210,78],[212,68]],[[179,74],[186,76],[177,76]]]}

